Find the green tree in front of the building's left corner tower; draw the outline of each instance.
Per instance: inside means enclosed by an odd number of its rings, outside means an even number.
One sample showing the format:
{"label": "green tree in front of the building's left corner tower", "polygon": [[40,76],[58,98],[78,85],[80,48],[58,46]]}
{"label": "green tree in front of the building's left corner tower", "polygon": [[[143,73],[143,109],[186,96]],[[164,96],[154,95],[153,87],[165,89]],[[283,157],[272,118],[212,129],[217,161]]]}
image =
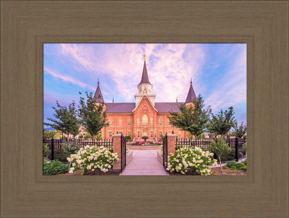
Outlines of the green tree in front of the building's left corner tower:
{"label": "green tree in front of the building's left corner tower", "polygon": [[[92,140],[95,140],[95,135],[101,132],[103,127],[107,127],[109,123],[106,123],[107,116],[105,110],[103,110],[104,102],[97,103],[92,97],[92,93],[86,93],[86,102],[84,98],[80,96],[79,100],[79,116],[81,117],[81,125],[85,128],[86,132],[92,135]],[[81,92],[79,92],[81,95]],[[99,95],[100,99],[101,96]]]}

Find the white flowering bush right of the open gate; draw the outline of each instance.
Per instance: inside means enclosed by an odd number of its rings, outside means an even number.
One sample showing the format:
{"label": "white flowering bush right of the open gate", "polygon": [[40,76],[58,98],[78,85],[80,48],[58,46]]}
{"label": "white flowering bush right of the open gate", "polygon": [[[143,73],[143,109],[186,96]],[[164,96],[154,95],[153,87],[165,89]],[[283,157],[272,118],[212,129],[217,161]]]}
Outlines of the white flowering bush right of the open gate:
{"label": "white flowering bush right of the open gate", "polygon": [[210,165],[217,166],[217,160],[212,159],[214,153],[203,151],[200,147],[191,146],[176,150],[176,154],[171,153],[168,158],[168,168],[170,172],[180,172],[186,174],[188,169],[201,173],[201,175],[211,175]]}

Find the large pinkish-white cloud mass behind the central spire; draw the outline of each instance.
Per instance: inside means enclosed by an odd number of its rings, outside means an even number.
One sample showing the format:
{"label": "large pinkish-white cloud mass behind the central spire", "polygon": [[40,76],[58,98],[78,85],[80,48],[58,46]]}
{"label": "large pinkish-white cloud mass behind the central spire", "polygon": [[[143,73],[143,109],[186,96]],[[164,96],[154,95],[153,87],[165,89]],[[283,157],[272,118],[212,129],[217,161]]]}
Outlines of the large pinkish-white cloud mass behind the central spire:
{"label": "large pinkish-white cloud mass behind the central spire", "polygon": [[113,88],[101,85],[102,91],[131,102],[141,79],[144,53],[157,102],[174,102],[176,96],[184,101],[190,78],[194,81],[205,56],[198,44],[61,44],[60,52],[75,70],[85,69],[90,78],[106,76],[110,81],[105,82],[112,82]]}

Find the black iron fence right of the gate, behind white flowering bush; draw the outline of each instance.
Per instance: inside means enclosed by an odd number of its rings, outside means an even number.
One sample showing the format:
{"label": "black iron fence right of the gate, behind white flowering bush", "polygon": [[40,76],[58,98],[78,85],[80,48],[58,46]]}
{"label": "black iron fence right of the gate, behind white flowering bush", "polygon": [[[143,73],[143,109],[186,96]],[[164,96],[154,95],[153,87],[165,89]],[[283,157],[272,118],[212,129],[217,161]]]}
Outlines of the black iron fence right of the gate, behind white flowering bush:
{"label": "black iron fence right of the gate, behind white flowering bush", "polygon": [[[176,139],[176,150],[180,148],[186,148],[188,146],[195,146],[200,147],[203,151],[210,151],[211,152],[211,143],[215,139]],[[229,161],[239,161],[245,156],[245,152],[243,152],[243,146],[246,143],[246,138],[224,138],[224,141],[229,145],[231,148],[229,152],[221,155],[222,162],[229,162]],[[217,159],[216,154],[214,154],[214,158]]]}

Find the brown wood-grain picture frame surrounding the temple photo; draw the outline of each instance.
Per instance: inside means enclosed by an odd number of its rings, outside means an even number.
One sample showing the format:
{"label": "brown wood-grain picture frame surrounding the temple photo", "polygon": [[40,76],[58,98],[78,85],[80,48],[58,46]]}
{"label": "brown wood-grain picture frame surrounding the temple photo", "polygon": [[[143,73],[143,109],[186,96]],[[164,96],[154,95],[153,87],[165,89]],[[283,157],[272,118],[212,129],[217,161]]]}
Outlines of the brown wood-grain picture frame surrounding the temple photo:
{"label": "brown wood-grain picture frame surrounding the temple photo", "polygon": [[[247,176],[43,176],[42,43],[247,43]],[[1,217],[288,217],[288,1],[1,1]]]}

